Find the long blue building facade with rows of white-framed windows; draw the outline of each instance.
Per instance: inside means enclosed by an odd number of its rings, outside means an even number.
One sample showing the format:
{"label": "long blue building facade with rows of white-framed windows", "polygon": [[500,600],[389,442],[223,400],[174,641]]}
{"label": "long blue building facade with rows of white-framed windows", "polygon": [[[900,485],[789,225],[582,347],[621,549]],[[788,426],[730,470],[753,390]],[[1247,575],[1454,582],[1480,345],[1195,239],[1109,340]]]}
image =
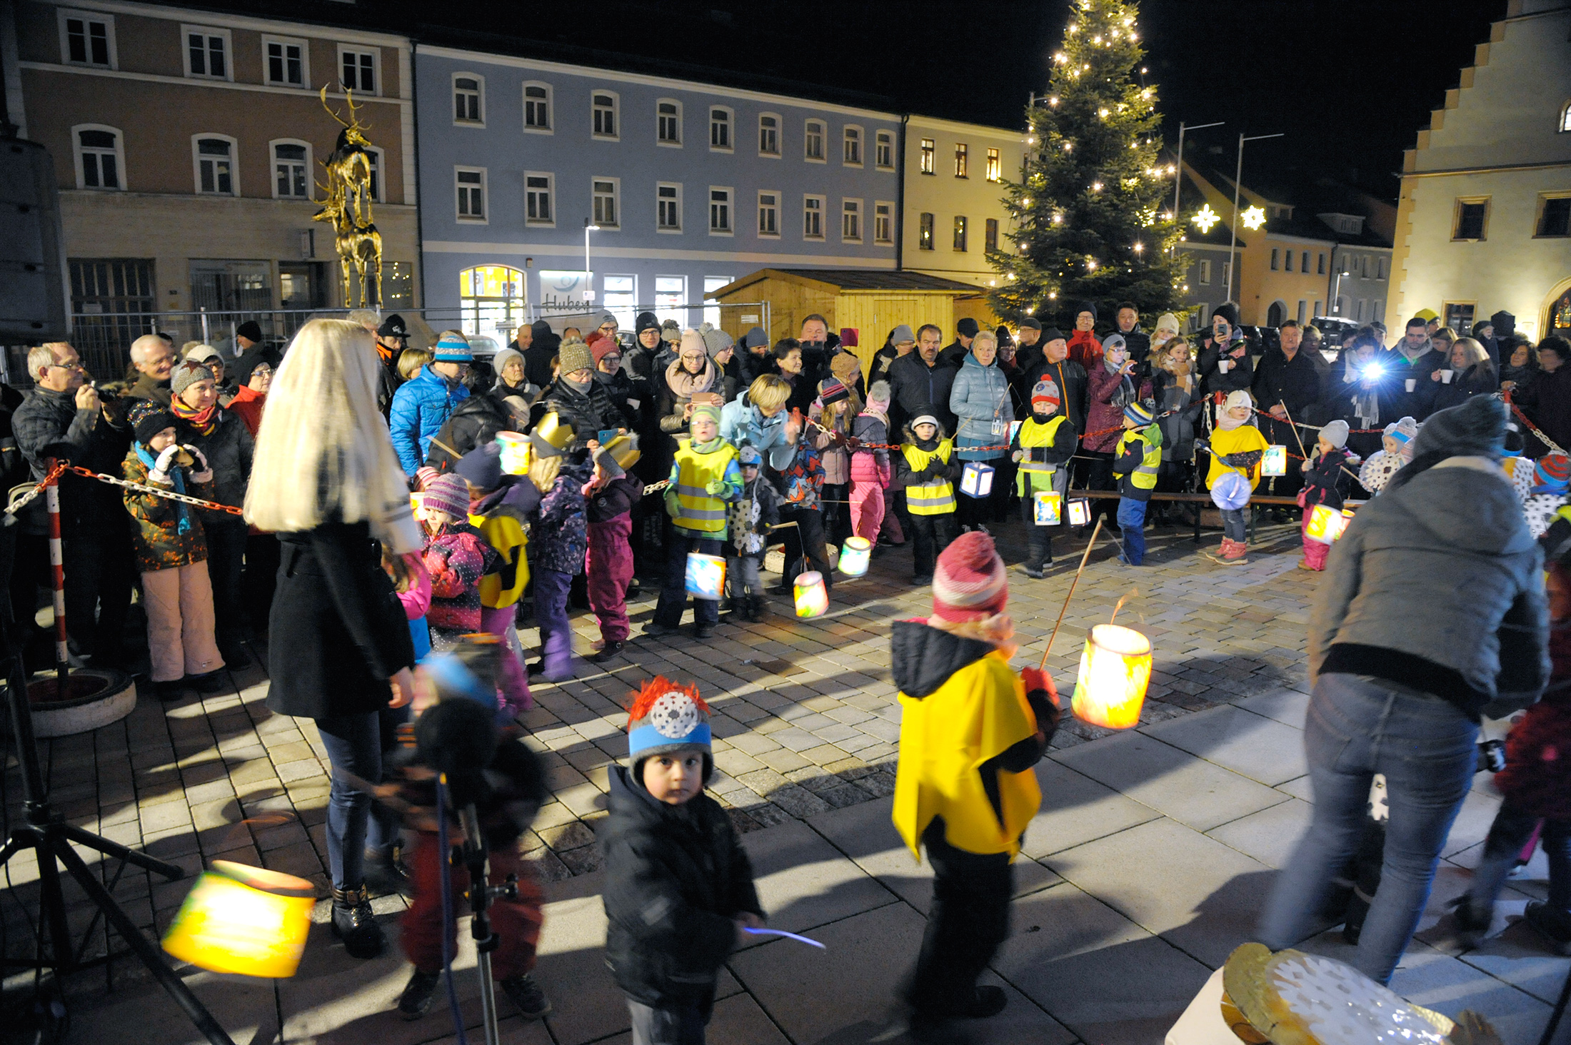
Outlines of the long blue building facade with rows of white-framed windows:
{"label": "long blue building facade with rows of white-framed windows", "polygon": [[415,82],[427,313],[468,333],[687,327],[756,269],[895,267],[894,113],[443,47]]}

